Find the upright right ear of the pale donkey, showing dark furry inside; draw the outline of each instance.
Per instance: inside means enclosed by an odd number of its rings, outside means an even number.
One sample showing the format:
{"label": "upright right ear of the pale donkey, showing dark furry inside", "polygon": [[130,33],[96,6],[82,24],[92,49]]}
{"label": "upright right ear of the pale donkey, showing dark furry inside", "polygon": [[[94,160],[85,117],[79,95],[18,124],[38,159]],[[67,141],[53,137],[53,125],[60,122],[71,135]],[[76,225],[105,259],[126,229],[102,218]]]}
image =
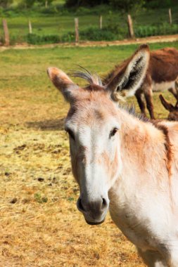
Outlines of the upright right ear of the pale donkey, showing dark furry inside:
{"label": "upright right ear of the pale donkey, showing dark furry inside", "polygon": [[150,51],[146,44],[141,45],[134,55],[126,60],[120,71],[107,85],[114,100],[134,96],[144,82],[148,70]]}

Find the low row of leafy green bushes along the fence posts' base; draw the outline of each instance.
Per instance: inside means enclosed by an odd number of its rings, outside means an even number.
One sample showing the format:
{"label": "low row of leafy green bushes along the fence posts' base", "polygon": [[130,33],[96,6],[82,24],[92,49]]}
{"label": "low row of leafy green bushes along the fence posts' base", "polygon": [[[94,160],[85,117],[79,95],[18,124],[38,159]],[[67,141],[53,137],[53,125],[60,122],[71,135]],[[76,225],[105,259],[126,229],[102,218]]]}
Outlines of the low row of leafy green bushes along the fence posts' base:
{"label": "low row of leafy green bushes along the fence posts' base", "polygon": [[[134,27],[135,37],[151,37],[155,35],[177,34],[178,25],[170,25],[162,23],[160,25],[144,25]],[[80,30],[80,41],[114,41],[122,40],[128,37],[127,27],[124,25],[117,25],[114,22],[109,22],[102,30],[98,27],[89,27],[85,30]],[[3,41],[3,40],[2,40]],[[55,44],[59,42],[75,41],[75,32],[68,32],[62,36],[58,35],[38,35],[27,34],[26,37],[18,36],[11,37],[11,43],[27,41],[28,44]]]}

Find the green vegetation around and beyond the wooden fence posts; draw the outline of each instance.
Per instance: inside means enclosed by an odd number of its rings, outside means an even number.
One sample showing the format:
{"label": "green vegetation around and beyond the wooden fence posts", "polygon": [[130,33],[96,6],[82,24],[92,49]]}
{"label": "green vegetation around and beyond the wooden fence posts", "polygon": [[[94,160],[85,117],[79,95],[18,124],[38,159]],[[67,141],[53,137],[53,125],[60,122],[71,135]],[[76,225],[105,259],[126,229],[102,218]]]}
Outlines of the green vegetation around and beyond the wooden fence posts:
{"label": "green vegetation around and beyond the wooden fence posts", "polygon": [[[170,7],[172,25],[168,16]],[[128,12],[132,15],[136,38],[178,33],[176,0],[0,0],[0,15],[8,22],[11,44],[75,41],[75,17],[79,18],[80,41],[127,39]],[[98,27],[99,15],[103,16],[102,30]],[[4,43],[2,34],[0,39]]]}

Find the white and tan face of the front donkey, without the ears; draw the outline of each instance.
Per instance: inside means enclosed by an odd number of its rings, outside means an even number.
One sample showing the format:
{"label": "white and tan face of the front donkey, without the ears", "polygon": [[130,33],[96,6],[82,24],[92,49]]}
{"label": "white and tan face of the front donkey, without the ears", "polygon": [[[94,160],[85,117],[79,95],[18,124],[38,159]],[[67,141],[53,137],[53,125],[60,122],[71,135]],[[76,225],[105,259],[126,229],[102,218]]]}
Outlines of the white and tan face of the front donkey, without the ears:
{"label": "white and tan face of the front donkey, without the ears", "polygon": [[108,190],[121,168],[117,107],[106,92],[86,92],[71,105],[65,130],[72,173],[80,185],[77,207],[88,223],[100,223],[108,209]]}

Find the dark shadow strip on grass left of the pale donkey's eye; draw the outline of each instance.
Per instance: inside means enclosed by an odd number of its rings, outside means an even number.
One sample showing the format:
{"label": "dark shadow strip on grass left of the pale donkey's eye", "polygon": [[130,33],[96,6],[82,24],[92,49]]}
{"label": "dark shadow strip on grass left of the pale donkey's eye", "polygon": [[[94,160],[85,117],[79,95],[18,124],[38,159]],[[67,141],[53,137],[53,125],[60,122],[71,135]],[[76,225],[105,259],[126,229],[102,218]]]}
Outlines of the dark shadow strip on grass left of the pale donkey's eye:
{"label": "dark shadow strip on grass left of the pale donkey's eye", "polygon": [[40,129],[42,131],[62,131],[64,129],[65,118],[63,119],[46,119],[39,122],[27,122],[27,128]]}

